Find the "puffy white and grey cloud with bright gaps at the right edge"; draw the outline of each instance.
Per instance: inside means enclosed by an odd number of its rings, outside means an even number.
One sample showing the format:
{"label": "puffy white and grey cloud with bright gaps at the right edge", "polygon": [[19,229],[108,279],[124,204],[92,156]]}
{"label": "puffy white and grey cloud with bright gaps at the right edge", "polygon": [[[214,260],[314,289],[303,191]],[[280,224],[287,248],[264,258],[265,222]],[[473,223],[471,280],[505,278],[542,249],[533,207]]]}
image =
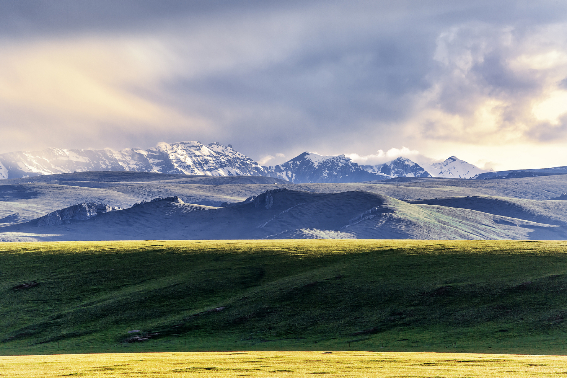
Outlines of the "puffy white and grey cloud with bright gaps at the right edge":
{"label": "puffy white and grey cloud with bright gaps at the right edge", "polygon": [[[488,145],[565,139],[567,26],[466,23],[439,34],[431,87],[417,96],[407,133]],[[557,126],[561,126],[557,128]]]}

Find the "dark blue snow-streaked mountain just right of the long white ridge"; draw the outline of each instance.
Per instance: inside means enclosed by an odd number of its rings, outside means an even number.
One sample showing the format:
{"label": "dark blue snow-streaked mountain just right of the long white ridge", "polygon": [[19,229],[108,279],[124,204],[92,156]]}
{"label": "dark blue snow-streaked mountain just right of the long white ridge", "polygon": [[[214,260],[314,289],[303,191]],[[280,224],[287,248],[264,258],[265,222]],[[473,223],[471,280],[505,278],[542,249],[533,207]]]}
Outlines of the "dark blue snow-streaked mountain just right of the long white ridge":
{"label": "dark blue snow-streaked mountain just right of the long white ridge", "polygon": [[357,182],[389,179],[380,173],[368,172],[345,155],[323,156],[303,154],[275,167],[268,167],[270,176],[294,183]]}

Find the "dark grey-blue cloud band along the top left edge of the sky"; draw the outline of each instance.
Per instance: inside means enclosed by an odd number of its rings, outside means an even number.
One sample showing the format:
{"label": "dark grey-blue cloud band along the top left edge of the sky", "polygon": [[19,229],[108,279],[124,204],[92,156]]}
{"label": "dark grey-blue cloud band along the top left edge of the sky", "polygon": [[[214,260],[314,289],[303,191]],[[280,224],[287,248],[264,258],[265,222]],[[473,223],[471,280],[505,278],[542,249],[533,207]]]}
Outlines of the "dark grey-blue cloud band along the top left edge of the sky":
{"label": "dark grey-blue cloud band along the top left edge of the sky", "polygon": [[[286,6],[301,3],[286,1]],[[239,12],[248,8],[281,6],[274,0],[3,0],[3,36],[46,36],[90,32],[136,32],[179,22]]]}

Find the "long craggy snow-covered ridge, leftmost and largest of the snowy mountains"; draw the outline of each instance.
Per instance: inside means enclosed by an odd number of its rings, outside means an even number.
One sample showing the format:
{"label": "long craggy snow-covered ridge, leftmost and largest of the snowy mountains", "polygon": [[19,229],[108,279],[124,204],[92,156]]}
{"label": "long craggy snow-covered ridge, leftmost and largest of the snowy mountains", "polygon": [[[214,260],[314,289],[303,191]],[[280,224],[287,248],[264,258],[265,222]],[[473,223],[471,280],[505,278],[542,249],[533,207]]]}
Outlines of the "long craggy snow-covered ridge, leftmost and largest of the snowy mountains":
{"label": "long craggy snow-covered ridge, leftmost and largest of the snowy mountains", "polygon": [[134,171],[206,176],[269,176],[259,163],[231,145],[200,142],[158,143],[156,147],[120,151],[65,150],[0,154],[0,179],[73,171]]}

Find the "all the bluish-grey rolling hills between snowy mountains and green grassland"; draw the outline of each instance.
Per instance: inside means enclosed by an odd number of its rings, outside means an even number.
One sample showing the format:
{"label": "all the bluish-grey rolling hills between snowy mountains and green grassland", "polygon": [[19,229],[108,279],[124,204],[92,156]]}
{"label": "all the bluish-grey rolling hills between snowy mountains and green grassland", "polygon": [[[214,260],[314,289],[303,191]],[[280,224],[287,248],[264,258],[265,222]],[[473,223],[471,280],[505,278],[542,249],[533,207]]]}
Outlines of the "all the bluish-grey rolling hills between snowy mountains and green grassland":
{"label": "all the bluish-grey rolling hills between snowy mountains and green grassland", "polygon": [[[342,184],[144,172],[33,179],[2,180],[0,240],[567,239],[567,202],[561,197],[567,175]],[[184,203],[132,208],[174,196]],[[245,202],[259,196],[272,198],[272,206],[256,206],[260,199]],[[124,210],[58,226],[25,224],[81,203]]]}

